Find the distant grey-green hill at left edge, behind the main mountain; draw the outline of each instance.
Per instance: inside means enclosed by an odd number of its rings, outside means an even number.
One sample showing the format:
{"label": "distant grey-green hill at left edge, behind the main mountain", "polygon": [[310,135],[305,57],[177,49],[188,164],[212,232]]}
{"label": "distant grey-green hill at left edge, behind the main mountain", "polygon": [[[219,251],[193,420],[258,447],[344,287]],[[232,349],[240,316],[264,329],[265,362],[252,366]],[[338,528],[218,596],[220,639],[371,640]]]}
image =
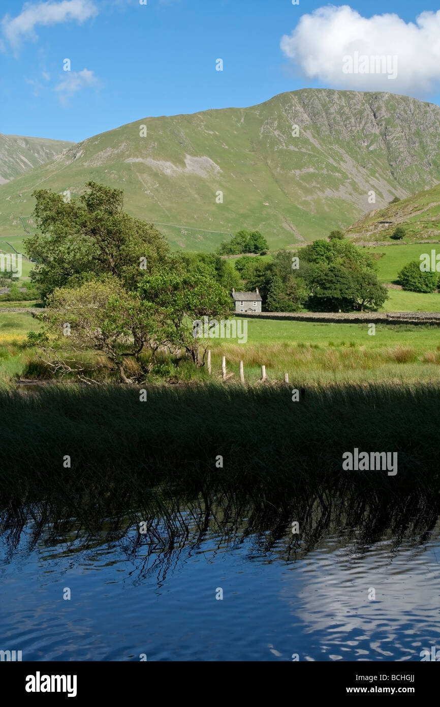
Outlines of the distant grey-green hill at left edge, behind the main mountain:
{"label": "distant grey-green hill at left edge, behind the main mountain", "polygon": [[73,144],[62,140],[0,133],[0,184],[53,160]]}

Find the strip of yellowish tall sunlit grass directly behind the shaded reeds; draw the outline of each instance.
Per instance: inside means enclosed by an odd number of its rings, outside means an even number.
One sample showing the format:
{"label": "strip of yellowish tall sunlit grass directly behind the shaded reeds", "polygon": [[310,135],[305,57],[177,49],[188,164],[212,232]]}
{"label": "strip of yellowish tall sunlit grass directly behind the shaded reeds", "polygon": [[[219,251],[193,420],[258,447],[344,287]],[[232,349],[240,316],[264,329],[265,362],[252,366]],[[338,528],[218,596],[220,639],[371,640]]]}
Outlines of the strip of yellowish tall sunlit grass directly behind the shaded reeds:
{"label": "strip of yellowish tall sunlit grass directly behind the shaded reeds", "polygon": [[[283,380],[289,374],[292,384],[314,385],[330,382],[389,382],[405,380],[440,380],[440,352],[417,352],[411,346],[389,346],[383,349],[365,349],[362,346],[321,347],[319,344],[266,344],[243,347],[239,344],[216,346],[212,349],[212,375],[206,366],[196,368],[184,357],[158,354],[148,375],[148,381],[190,382],[221,380],[222,355],[227,360],[227,373],[232,380],[239,380],[239,361],[244,361],[247,382],[257,382],[261,377],[261,364],[266,366],[270,380]],[[65,354],[69,358],[69,354]],[[144,356],[145,362],[148,355]],[[77,356],[85,366],[85,375],[97,382],[117,383],[119,372],[102,356],[85,351]],[[129,377],[141,373],[136,361],[127,358],[125,369]],[[38,350],[23,341],[10,341],[0,345],[0,382],[13,384],[18,378],[76,380],[74,373],[61,378],[41,360]]]}

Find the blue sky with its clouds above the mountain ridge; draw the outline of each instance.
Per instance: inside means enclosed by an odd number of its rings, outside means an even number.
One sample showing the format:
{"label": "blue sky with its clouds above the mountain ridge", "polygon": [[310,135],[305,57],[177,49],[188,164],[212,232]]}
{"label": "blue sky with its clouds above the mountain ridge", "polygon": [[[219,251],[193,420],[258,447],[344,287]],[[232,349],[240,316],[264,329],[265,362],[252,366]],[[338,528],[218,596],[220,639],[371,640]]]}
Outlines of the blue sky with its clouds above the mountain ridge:
{"label": "blue sky with its clouds above the mountain ridge", "polygon": [[[254,105],[304,87],[439,103],[436,11],[428,0],[345,10],[306,0],[2,0],[0,132],[79,141],[151,115]],[[386,13],[395,17],[371,19]],[[343,74],[341,54],[357,49],[398,55],[396,81]]]}

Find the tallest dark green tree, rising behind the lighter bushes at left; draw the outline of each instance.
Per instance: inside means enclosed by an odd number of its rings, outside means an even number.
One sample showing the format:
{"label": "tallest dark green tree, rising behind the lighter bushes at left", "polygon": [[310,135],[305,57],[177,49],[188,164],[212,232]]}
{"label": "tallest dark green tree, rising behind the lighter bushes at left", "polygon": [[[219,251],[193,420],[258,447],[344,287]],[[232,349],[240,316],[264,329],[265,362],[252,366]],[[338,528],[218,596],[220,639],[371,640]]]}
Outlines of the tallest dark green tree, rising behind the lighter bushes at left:
{"label": "tallest dark green tree, rising behind the lighter bushes at left", "polygon": [[105,274],[127,288],[145,272],[166,262],[169,247],[148,223],[123,211],[123,192],[95,182],[78,199],[64,203],[60,194],[40,189],[34,217],[41,233],[26,240],[37,262],[32,281],[43,298],[59,287],[75,287]]}

